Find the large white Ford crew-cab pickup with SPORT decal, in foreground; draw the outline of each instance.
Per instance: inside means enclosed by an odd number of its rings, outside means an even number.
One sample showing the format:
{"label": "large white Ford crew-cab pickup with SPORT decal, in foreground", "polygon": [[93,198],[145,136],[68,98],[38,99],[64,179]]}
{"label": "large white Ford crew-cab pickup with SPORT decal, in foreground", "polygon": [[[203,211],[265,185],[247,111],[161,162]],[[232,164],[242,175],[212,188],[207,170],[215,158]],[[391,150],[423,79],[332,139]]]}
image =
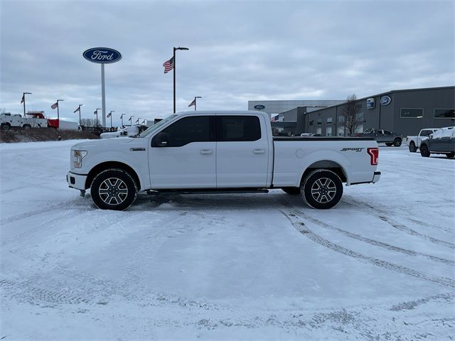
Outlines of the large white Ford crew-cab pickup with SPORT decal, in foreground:
{"label": "large white Ford crew-cab pickup with SPORT decal, in foreground", "polygon": [[267,193],[335,206],[343,183],[380,179],[371,138],[274,137],[263,112],[181,112],[137,137],[71,148],[67,182],[97,207],[125,210],[138,193]]}

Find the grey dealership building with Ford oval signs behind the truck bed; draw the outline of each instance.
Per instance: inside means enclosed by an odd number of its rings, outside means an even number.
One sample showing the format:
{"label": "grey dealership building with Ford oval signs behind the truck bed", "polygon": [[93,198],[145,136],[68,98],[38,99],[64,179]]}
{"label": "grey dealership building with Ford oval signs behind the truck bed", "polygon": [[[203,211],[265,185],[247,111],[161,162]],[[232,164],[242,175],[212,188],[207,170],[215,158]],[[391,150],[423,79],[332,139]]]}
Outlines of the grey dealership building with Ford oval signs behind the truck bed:
{"label": "grey dealership building with Ford oval signs behind the truck bed", "polygon": [[[286,102],[287,110],[276,112],[277,109],[273,109],[274,112],[269,112],[268,102],[274,102],[275,107],[278,107],[277,102]],[[304,132],[323,136],[345,134],[343,113],[347,107],[346,100],[250,101],[248,109],[255,110],[258,105],[261,111],[279,114],[278,122],[272,122],[272,127],[280,131],[297,136]],[[355,106],[358,132],[373,128],[408,136],[416,135],[424,128],[455,126],[455,87],[392,90],[357,99]]]}

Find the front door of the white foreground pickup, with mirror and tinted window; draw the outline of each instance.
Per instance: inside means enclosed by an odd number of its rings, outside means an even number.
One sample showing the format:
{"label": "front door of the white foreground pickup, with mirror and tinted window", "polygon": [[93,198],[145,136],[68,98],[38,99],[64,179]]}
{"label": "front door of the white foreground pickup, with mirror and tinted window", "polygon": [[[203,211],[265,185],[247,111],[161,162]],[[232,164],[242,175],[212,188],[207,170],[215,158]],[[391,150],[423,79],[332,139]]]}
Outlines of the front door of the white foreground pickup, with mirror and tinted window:
{"label": "front door of the white foreground pickup, with mirror and tinted window", "polygon": [[151,188],[216,188],[215,116],[183,117],[159,134],[167,146],[149,148]]}

